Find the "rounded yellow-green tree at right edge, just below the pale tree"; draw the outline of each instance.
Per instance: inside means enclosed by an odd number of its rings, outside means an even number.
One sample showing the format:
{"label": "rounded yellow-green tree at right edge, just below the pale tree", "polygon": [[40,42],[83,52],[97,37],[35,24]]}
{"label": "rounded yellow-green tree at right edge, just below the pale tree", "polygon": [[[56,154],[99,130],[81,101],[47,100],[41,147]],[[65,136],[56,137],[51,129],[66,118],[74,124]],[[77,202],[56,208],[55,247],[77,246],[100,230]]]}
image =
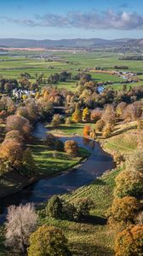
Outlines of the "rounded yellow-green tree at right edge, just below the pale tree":
{"label": "rounded yellow-green tree at right edge, just below the pale tree", "polygon": [[134,196],[140,198],[143,194],[143,176],[140,172],[123,171],[115,179],[115,195],[119,197]]}

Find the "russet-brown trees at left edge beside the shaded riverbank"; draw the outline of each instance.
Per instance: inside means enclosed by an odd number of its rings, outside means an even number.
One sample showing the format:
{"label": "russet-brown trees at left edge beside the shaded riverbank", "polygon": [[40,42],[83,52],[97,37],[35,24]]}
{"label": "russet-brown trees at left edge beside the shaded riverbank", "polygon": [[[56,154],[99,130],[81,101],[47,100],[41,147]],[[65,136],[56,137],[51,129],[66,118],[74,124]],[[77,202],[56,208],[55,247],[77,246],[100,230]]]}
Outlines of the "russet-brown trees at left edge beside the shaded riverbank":
{"label": "russet-brown trees at left edge beside the shaded riverbank", "polygon": [[26,148],[26,138],[31,132],[28,119],[17,114],[9,115],[6,122],[6,135],[0,147],[0,175],[18,171],[26,176],[34,176],[37,166],[31,149]]}

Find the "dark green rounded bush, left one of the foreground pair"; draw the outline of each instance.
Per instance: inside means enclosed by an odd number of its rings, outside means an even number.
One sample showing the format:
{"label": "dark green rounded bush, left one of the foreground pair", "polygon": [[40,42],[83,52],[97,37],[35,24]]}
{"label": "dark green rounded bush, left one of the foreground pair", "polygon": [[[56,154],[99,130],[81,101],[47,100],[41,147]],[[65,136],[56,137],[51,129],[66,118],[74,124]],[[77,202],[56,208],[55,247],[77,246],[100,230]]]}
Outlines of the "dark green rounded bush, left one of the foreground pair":
{"label": "dark green rounded bush, left one of the foreground pair", "polygon": [[46,207],[46,213],[52,218],[61,218],[63,214],[62,201],[58,195],[52,196]]}

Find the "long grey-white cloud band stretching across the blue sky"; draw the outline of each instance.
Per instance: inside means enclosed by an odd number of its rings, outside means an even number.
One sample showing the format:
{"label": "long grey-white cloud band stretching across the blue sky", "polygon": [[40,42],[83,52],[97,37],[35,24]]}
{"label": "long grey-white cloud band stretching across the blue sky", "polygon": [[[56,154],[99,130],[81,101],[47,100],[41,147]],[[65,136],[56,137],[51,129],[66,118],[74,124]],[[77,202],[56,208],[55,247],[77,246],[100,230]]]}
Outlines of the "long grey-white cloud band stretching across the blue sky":
{"label": "long grey-white cloud band stretching across the blue sky", "polygon": [[[2,17],[1,17],[2,18]],[[115,12],[112,9],[103,13],[71,12],[67,15],[35,15],[33,19],[3,17],[8,22],[23,26],[76,27],[84,29],[143,29],[143,16],[129,12]]]}

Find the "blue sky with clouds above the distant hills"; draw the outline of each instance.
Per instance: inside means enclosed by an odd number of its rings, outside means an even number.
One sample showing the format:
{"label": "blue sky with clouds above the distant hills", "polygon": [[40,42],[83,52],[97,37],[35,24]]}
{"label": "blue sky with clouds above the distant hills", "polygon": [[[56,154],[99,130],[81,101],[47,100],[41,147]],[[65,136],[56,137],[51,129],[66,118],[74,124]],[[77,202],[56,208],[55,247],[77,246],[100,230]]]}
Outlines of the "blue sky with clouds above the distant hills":
{"label": "blue sky with clouds above the distant hills", "polygon": [[143,0],[0,0],[0,38],[143,38]]}

